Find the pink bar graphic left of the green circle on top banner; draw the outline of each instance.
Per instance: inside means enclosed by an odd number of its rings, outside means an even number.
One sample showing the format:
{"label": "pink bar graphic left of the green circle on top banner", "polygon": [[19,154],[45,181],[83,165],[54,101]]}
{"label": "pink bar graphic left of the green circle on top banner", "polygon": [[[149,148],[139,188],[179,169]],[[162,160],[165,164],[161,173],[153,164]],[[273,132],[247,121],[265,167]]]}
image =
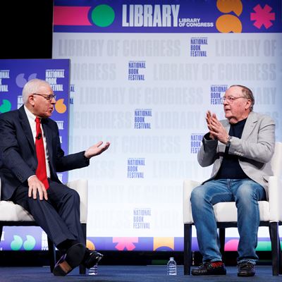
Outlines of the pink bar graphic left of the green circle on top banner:
{"label": "pink bar graphic left of the green circle on top banner", "polygon": [[54,25],[92,25],[88,20],[90,8],[54,6]]}

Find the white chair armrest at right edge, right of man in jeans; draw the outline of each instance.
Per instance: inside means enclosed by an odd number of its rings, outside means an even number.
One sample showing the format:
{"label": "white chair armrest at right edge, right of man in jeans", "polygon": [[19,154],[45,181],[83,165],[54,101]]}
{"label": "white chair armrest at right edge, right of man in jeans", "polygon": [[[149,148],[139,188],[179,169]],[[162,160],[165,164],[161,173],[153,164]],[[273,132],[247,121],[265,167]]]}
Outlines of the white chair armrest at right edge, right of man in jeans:
{"label": "white chair armrest at right edge, right of man in jeans", "polygon": [[282,221],[282,179],[269,177],[269,216],[270,221]]}

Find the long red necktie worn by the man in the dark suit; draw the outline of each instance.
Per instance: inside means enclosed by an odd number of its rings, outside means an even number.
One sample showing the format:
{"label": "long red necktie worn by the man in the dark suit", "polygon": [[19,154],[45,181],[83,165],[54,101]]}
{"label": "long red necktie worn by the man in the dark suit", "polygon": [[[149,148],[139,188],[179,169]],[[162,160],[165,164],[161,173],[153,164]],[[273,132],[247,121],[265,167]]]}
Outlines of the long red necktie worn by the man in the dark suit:
{"label": "long red necktie worn by the man in the dark suit", "polygon": [[49,183],[47,180],[45,151],[44,151],[42,130],[40,128],[40,118],[35,118],[35,123],[36,123],[35,149],[36,149],[36,157],[38,161],[35,174],[37,178],[44,184],[47,190],[49,188]]}

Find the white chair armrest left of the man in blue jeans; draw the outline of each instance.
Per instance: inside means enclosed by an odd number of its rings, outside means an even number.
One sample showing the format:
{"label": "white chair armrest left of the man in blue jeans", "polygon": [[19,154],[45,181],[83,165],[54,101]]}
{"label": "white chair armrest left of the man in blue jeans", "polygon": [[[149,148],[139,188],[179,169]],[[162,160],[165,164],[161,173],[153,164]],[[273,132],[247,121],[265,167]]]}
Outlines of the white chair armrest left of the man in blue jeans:
{"label": "white chair armrest left of the man in blue jeans", "polygon": [[194,180],[183,181],[183,223],[193,222],[190,197],[192,190],[200,184]]}

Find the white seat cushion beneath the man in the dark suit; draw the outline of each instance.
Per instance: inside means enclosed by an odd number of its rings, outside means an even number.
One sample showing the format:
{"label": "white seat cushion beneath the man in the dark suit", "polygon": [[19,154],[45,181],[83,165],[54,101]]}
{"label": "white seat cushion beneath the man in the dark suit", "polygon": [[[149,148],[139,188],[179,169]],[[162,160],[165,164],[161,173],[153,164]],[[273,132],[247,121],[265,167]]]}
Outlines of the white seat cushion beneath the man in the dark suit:
{"label": "white seat cushion beneath the man in the dark suit", "polygon": [[33,217],[20,207],[10,201],[0,201],[0,221],[35,221]]}

